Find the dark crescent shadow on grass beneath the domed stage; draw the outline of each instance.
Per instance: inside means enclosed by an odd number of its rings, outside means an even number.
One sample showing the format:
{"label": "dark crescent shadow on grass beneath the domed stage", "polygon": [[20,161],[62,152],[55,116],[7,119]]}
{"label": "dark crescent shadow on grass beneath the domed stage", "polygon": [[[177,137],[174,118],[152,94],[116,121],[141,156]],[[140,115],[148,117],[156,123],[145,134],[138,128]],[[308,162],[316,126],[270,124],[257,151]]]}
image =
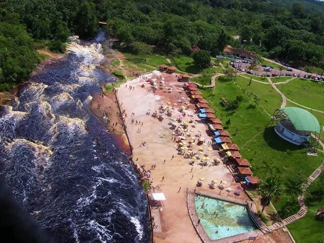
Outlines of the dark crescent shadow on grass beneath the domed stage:
{"label": "dark crescent shadow on grass beneath the domed stage", "polygon": [[265,130],[263,132],[263,139],[271,148],[273,148],[277,151],[289,152],[289,151],[301,150],[299,152],[304,153],[304,151],[302,151],[303,147],[294,145],[294,144],[280,138],[275,133],[274,126],[265,128]]}

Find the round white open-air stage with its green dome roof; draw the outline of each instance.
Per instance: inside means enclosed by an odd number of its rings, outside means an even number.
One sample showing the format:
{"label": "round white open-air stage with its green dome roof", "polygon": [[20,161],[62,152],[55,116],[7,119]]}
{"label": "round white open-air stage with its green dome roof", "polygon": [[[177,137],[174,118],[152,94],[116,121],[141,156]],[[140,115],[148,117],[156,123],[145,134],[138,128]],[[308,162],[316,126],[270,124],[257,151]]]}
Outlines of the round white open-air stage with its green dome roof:
{"label": "round white open-air stage with its green dome roof", "polygon": [[275,133],[286,141],[304,145],[309,152],[316,153],[320,126],[316,117],[299,107],[285,107],[274,111],[272,120],[276,121]]}

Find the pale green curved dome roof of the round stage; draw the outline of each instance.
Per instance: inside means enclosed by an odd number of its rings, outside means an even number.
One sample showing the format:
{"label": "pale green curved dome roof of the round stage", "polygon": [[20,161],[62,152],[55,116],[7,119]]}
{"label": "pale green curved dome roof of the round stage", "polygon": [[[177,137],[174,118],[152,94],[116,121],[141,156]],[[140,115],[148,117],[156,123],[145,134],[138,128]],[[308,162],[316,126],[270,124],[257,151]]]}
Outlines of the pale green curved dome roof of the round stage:
{"label": "pale green curved dome roof of the round stage", "polygon": [[296,130],[320,133],[318,120],[309,111],[299,107],[285,107],[280,110],[290,119]]}

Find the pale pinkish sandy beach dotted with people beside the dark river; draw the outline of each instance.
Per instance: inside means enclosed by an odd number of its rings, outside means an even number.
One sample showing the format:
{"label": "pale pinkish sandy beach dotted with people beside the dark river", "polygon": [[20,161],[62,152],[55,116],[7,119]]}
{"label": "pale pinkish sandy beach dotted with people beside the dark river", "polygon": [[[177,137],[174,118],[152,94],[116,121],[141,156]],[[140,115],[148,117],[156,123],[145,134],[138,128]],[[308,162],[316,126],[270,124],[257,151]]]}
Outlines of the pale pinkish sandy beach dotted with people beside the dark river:
{"label": "pale pinkish sandy beach dotted with people beside the dark river", "polygon": [[[157,89],[153,93],[147,82],[148,79],[153,78],[158,80],[164,78],[165,87],[172,87],[173,91],[169,93],[165,88],[163,90]],[[186,115],[183,120],[192,119],[196,121],[196,124],[192,123],[188,126],[188,129],[192,131],[190,136],[185,136],[190,138],[200,134],[200,131],[201,137],[206,139],[206,145],[200,146],[196,145],[197,139],[195,139],[192,150],[197,151],[199,147],[202,147],[204,153],[208,151],[211,160],[220,157],[217,150],[211,150],[212,147],[207,145],[211,141],[211,137],[207,134],[208,127],[194,113],[194,104],[184,103],[189,102],[189,99],[182,85],[183,83],[177,82],[177,74],[154,71],[144,75],[144,77],[130,80],[117,89],[120,105],[126,110],[127,114],[125,122],[133,146],[133,160],[137,161],[140,166],[145,165],[146,171],[150,170],[151,191],[163,192],[167,198],[162,202],[161,208],[163,210],[161,212],[158,211],[159,209],[151,208],[154,217],[153,235],[155,242],[200,242],[188,215],[186,198],[186,189],[195,188],[200,178],[205,178],[200,189],[210,190],[216,194],[234,196],[234,191],[227,192],[225,189],[220,190],[218,188],[209,189],[208,183],[215,179],[226,181],[226,187],[240,187],[239,183],[233,181],[231,173],[223,163],[218,166],[201,167],[196,160],[194,166],[191,167],[189,159],[178,154],[176,147],[179,145],[174,141],[174,130],[171,129],[170,119],[179,117],[181,112],[178,111],[178,108],[185,105],[188,106],[187,114],[191,114],[191,116]],[[130,87],[132,87],[132,90]],[[181,101],[181,103],[178,101]],[[170,102],[174,107],[172,115],[169,117],[164,114],[163,121],[152,117],[152,112],[166,102]],[[150,111],[149,115],[147,111]],[[132,115],[132,112],[134,112],[134,115]],[[132,119],[134,119],[134,123],[132,123]],[[136,121],[140,125],[136,125]],[[178,141],[178,138],[176,138],[176,141]],[[145,146],[143,146],[143,142],[145,142]],[[155,169],[151,169],[152,165],[156,165]],[[240,193],[238,197],[248,199],[245,193]]]}

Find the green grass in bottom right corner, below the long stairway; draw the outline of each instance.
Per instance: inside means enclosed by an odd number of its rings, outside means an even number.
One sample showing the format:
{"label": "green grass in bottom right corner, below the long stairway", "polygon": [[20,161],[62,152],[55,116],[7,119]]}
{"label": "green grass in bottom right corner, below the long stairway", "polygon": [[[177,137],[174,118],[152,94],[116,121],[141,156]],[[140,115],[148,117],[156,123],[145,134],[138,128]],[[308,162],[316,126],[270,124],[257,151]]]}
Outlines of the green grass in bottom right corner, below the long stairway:
{"label": "green grass in bottom right corner, below the long stairway", "polygon": [[[317,181],[318,179],[313,183]],[[298,243],[317,243],[320,239],[324,239],[324,222],[315,220],[315,214],[321,207],[324,207],[324,197],[321,201],[317,201],[308,207],[308,212],[304,218],[288,225],[288,229]]]}

